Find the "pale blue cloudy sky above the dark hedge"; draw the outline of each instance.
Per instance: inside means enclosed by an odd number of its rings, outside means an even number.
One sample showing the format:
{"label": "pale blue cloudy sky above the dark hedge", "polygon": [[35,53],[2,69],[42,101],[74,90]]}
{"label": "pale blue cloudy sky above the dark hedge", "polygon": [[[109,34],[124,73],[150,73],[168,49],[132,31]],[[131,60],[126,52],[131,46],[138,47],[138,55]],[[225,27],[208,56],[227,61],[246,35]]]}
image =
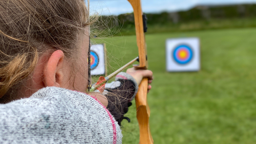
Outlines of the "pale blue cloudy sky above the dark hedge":
{"label": "pale blue cloudy sky above the dark hedge", "polygon": [[[256,0],[141,0],[144,13],[188,10],[198,4],[244,4],[256,3]],[[101,15],[119,15],[131,13],[132,7],[127,0],[90,0],[90,13]]]}

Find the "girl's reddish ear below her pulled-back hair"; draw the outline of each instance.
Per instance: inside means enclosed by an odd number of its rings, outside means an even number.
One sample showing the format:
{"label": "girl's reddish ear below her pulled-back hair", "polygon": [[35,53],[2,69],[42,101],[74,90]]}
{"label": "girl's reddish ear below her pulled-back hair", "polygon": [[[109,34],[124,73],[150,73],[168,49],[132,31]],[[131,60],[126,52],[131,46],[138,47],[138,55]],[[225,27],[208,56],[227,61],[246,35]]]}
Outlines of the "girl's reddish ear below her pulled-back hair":
{"label": "girl's reddish ear below her pulled-back hair", "polygon": [[63,84],[63,59],[62,50],[53,52],[44,67],[44,86],[60,87]]}

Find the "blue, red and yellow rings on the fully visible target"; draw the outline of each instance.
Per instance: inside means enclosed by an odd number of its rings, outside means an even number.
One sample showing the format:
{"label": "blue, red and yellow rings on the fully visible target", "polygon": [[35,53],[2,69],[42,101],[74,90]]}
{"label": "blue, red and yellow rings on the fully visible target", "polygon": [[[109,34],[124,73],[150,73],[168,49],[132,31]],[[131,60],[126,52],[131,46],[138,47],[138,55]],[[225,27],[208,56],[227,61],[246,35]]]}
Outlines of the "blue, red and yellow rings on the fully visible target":
{"label": "blue, red and yellow rings on the fully visible target", "polygon": [[173,58],[179,64],[186,64],[191,61],[193,57],[192,49],[185,44],[179,45],[173,50]]}

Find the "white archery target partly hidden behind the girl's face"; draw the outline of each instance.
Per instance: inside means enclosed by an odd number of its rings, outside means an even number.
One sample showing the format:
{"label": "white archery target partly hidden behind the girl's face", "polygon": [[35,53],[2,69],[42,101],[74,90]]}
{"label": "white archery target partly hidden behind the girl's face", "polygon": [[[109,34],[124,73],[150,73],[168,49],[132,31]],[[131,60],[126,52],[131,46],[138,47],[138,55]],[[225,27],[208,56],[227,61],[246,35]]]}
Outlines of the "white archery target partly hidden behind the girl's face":
{"label": "white archery target partly hidden behind the girl's face", "polygon": [[106,74],[105,44],[96,44],[90,47],[90,69],[91,75]]}

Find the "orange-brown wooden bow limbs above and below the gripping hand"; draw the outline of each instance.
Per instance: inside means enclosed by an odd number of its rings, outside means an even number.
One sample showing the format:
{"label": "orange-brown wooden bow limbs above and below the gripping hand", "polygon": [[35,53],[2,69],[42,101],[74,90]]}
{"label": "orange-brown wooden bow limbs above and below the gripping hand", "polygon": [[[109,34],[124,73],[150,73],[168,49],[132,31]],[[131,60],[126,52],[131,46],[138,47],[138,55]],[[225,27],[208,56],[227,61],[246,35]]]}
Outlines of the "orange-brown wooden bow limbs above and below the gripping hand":
{"label": "orange-brown wooden bow limbs above and below the gripping hand", "polygon": [[[133,8],[135,19],[135,30],[137,37],[137,46],[139,49],[139,65],[136,69],[147,69],[147,50],[143,28],[143,18],[140,0],[128,0]],[[148,79],[144,78],[140,85],[137,95],[135,96],[137,107],[137,120],[139,123],[139,144],[153,144],[152,135],[149,127],[150,110],[147,103]]]}

